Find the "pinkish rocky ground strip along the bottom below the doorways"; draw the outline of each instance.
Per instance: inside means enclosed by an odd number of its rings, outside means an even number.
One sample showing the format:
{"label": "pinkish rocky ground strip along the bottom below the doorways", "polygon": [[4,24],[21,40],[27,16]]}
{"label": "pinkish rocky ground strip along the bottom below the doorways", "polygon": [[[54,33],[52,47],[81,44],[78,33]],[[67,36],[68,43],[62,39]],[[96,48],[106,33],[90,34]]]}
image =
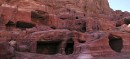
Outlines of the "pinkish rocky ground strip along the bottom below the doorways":
{"label": "pinkish rocky ground strip along the bottom below the doorways", "polygon": [[90,54],[76,54],[76,55],[43,55],[35,53],[17,52],[13,59],[130,59],[130,53],[117,53],[109,56],[92,56]]}

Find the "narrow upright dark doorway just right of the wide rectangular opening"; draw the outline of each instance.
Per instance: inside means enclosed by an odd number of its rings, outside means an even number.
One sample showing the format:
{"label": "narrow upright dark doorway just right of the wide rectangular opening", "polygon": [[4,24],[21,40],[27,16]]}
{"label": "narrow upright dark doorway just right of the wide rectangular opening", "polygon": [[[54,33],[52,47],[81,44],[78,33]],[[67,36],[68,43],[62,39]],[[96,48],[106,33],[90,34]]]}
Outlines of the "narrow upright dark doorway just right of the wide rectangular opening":
{"label": "narrow upright dark doorway just right of the wide rectangular opening", "polygon": [[74,41],[72,39],[69,39],[65,47],[65,53],[66,55],[69,55],[72,54],[73,51],[74,51]]}

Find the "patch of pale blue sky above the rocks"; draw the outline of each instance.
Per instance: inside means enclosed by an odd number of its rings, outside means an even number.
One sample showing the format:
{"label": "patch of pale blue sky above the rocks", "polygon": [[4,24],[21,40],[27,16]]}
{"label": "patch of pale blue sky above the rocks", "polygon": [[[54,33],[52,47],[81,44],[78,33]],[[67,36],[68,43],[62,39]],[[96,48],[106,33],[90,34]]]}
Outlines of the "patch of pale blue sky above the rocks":
{"label": "patch of pale blue sky above the rocks", "polygon": [[113,10],[122,10],[130,12],[130,0],[108,0]]}

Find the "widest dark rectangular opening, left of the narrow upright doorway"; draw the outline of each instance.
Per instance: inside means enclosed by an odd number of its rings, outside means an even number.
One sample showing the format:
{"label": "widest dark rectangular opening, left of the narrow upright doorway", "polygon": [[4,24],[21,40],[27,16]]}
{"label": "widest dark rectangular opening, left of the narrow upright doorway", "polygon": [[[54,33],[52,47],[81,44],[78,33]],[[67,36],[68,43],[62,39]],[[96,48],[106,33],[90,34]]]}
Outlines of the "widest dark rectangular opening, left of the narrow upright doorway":
{"label": "widest dark rectangular opening, left of the narrow upright doorway", "polygon": [[37,42],[37,53],[40,54],[57,54],[59,51],[59,46],[60,42],[54,42],[54,41],[49,41],[49,42],[42,42],[38,41]]}

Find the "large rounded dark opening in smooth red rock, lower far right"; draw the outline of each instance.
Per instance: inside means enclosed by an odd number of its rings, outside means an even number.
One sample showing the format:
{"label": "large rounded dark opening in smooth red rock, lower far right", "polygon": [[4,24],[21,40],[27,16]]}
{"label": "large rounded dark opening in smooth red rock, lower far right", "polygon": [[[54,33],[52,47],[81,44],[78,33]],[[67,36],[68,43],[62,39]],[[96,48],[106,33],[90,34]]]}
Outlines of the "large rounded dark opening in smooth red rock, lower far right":
{"label": "large rounded dark opening in smooth red rock, lower far right", "polygon": [[121,52],[123,48],[123,40],[120,36],[109,35],[109,45],[112,50],[116,52]]}

